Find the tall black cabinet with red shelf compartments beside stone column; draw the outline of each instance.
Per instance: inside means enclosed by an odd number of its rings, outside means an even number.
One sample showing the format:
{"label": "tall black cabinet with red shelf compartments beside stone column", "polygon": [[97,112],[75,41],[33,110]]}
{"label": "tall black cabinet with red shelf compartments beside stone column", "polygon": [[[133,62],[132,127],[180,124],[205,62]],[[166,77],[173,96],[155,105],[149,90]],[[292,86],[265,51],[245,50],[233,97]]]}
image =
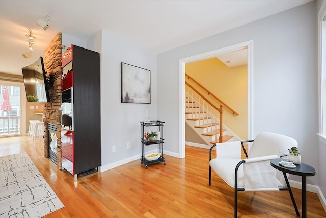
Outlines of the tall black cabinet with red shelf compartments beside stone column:
{"label": "tall black cabinet with red shelf compartments beside stone column", "polygon": [[[77,174],[101,166],[100,116],[100,56],[82,47],[71,45],[62,54],[63,83],[62,110],[72,118],[72,127],[62,129],[62,137],[70,137],[72,154],[62,165],[77,179]],[[66,96],[67,94],[71,96]],[[68,141],[68,140],[66,140]],[[62,147],[65,140],[62,138]],[[64,161],[66,163],[64,163]]]}

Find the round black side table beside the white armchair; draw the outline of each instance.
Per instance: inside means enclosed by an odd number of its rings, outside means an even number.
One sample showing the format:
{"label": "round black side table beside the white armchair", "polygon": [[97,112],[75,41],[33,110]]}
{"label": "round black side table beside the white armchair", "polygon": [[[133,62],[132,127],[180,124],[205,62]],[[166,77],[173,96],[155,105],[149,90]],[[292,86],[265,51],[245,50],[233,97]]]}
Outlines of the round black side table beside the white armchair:
{"label": "round black side table beside the white armchair", "polygon": [[288,180],[285,173],[301,176],[302,217],[306,218],[307,217],[307,187],[306,187],[307,178],[306,177],[316,175],[316,170],[313,167],[304,163],[296,164],[295,168],[288,168],[288,167],[281,166],[279,162],[280,162],[279,159],[270,160],[270,165],[278,169],[279,171],[283,172],[287,184],[288,184]]}

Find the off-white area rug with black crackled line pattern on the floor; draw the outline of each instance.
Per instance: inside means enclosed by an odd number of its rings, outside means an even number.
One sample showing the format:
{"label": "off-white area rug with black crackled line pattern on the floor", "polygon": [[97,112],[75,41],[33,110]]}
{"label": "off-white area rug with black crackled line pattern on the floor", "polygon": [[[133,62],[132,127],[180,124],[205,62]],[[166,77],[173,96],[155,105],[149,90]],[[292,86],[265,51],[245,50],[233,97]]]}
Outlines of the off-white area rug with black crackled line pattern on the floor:
{"label": "off-white area rug with black crackled line pattern on the floor", "polygon": [[64,205],[25,153],[0,157],[0,217],[42,217]]}

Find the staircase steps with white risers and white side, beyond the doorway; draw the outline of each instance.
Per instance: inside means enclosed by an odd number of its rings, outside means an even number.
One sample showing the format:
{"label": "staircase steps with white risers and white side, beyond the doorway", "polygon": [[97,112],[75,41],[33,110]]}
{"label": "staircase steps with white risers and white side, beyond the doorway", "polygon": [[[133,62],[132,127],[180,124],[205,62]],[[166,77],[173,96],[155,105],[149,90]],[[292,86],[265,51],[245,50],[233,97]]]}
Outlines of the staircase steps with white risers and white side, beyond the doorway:
{"label": "staircase steps with white risers and white side, beyond the doorway", "polygon": [[[220,119],[217,118],[216,116],[214,116],[213,114],[211,114],[211,112],[207,112],[204,110],[204,107],[202,104],[200,104],[198,101],[196,101],[195,99],[192,99],[192,96],[188,95],[188,93],[186,93],[186,114],[185,114],[185,122],[186,124],[188,124],[196,133],[197,135],[202,138],[206,144],[210,147],[212,144],[210,143],[211,141],[219,141],[219,136],[220,134],[217,135],[213,135],[213,136],[206,136],[206,135],[202,135],[203,133],[207,133],[210,131],[215,130],[216,128],[220,128]],[[193,103],[189,103],[189,102],[193,102]],[[197,107],[194,107],[194,106]],[[193,107],[192,107],[193,106]],[[197,112],[197,113],[191,113],[191,112]],[[205,111],[204,113],[199,113],[200,111]],[[189,113],[187,113],[189,112]],[[209,117],[208,119],[204,119],[202,117]],[[196,118],[201,118],[200,120],[188,120],[188,119],[196,119]],[[210,123],[217,123],[217,127],[216,125],[213,125],[211,127],[205,127],[205,128],[195,128],[195,126],[200,126],[203,124],[210,124]],[[239,141],[241,140],[234,132],[232,132],[227,126],[225,126],[223,124],[223,129],[225,131],[223,131],[223,136],[225,135],[229,135],[229,136],[233,136],[231,139],[229,139],[228,141]],[[217,137],[217,139],[216,139]]]}

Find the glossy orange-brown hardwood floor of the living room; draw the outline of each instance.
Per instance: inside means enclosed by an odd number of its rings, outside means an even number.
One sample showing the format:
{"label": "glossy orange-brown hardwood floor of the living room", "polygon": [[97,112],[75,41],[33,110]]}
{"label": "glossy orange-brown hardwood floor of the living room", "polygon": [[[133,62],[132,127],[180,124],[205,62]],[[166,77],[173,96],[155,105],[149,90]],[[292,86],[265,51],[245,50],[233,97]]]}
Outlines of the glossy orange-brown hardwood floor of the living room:
{"label": "glossy orange-brown hardwood floor of the living room", "polygon": [[[141,149],[141,146],[140,146]],[[44,158],[43,139],[0,139],[0,156],[26,152],[64,208],[46,217],[233,217],[233,188],[214,172],[209,151],[186,147],[186,158],[165,156],[145,169],[140,160],[86,177],[59,171]],[[301,190],[293,188],[301,213]],[[307,216],[326,217],[318,196],[307,193]],[[297,217],[287,191],[239,192],[238,217]]]}

